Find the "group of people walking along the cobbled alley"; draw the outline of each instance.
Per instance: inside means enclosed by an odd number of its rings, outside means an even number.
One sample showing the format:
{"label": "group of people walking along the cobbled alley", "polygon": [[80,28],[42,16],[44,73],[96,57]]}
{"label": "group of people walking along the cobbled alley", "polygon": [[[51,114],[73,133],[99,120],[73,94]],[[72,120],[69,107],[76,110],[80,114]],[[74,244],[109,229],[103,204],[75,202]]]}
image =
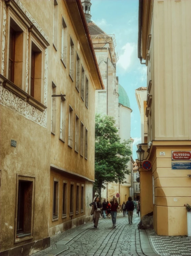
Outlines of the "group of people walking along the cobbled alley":
{"label": "group of people walking along the cobbled alley", "polygon": [[[110,218],[110,214],[111,214],[111,218],[112,218],[112,223],[113,223],[113,228],[116,227],[116,217],[117,217],[117,210],[120,208],[117,198],[112,198],[112,200],[107,201],[104,199],[103,203],[101,204],[99,197],[96,197],[94,202],[92,202],[90,204],[90,206],[92,207],[91,210],[91,215],[93,215],[93,223],[94,223],[94,228],[97,228],[98,226],[98,221],[100,218],[100,214],[103,211],[103,218],[106,219]],[[123,217],[125,216],[125,213],[127,212],[128,215],[128,220],[129,220],[129,224],[132,223],[132,219],[133,219],[133,211],[134,208],[136,208],[138,216],[139,216],[139,212],[140,212],[140,202],[136,202],[135,205],[132,201],[132,198],[129,196],[128,197],[128,201],[125,203],[123,202],[122,204],[122,210],[123,210]]]}

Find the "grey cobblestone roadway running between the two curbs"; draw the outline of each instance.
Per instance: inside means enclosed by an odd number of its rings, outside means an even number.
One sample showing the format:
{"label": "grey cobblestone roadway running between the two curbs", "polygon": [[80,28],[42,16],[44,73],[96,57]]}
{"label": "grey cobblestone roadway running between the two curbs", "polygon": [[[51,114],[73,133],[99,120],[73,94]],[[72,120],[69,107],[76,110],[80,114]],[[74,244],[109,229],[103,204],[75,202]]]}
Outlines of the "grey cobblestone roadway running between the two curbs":
{"label": "grey cobblestone roadway running between the two curbs", "polygon": [[112,228],[111,219],[105,219],[100,225],[98,224],[97,229],[92,227],[72,239],[67,244],[68,250],[59,255],[143,255],[137,229],[139,219],[134,217],[133,224],[129,224],[128,217],[122,217],[122,214],[118,214],[116,228]]}

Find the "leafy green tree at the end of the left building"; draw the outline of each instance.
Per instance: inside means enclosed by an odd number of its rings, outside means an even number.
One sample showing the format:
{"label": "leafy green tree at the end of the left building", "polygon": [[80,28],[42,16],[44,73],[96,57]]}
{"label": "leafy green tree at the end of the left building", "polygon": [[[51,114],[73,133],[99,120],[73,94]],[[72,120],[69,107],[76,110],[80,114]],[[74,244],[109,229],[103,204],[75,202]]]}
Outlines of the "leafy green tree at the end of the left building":
{"label": "leafy green tree at the end of the left building", "polygon": [[112,116],[96,114],[93,195],[101,198],[101,188],[107,183],[126,183],[125,175],[130,173],[127,167],[131,155],[129,143],[130,140],[120,142]]}

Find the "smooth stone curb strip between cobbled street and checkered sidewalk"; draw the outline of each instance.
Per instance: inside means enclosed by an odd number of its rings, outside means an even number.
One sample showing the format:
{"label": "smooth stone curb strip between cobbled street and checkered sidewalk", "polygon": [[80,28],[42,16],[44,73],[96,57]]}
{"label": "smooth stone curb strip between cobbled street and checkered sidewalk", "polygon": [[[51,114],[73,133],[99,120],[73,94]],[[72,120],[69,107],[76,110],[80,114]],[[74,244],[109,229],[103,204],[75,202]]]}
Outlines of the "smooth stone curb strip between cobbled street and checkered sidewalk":
{"label": "smooth stone curb strip between cobbled street and checkered sidewalk", "polygon": [[146,230],[139,229],[139,236],[140,236],[141,250],[144,255],[146,255],[146,256],[162,256],[161,254],[156,254],[154,252],[154,250],[153,250],[154,248],[150,244],[150,240],[149,240]]}

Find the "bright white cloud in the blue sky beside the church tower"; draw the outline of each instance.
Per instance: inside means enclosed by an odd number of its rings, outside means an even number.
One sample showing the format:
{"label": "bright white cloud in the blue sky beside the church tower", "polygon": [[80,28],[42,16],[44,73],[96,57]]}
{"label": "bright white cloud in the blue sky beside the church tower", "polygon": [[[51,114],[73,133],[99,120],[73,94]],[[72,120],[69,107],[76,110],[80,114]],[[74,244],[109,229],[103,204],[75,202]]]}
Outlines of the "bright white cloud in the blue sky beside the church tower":
{"label": "bright white cloud in the blue sky beside the church tower", "polygon": [[123,53],[119,56],[118,65],[125,71],[128,70],[132,62],[134,62],[136,49],[137,44],[135,43],[127,43],[122,47]]}

